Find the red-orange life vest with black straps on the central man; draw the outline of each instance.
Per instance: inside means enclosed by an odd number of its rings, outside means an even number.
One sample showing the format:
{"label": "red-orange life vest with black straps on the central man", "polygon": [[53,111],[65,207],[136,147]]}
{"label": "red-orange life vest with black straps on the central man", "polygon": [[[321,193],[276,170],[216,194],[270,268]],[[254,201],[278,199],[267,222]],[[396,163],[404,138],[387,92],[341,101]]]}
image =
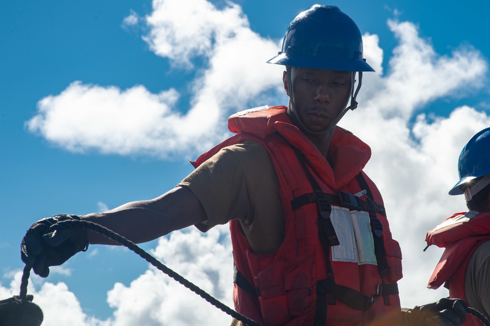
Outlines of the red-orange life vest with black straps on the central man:
{"label": "red-orange life vest with black straps on the central man", "polygon": [[[362,172],[370,157],[368,145],[337,127],[329,150],[337,162],[332,168],[292,124],[283,106],[235,114],[228,118],[228,127],[237,135],[201,155],[193,165],[231,144],[246,140],[262,144],[277,172],[285,221],[283,243],[274,252],[260,255],[253,253],[240,223],[230,221],[236,273],[252,289],[245,291],[235,282],[235,309],[266,326],[399,325],[396,281],[402,277],[401,250],[392,239],[386,216],[380,213],[384,210],[381,195]],[[359,178],[365,185],[360,185]],[[353,195],[363,190],[369,193],[358,196],[365,200]],[[331,222],[335,221],[330,220],[335,214],[329,215],[329,210],[340,216],[333,231]],[[376,247],[376,258],[369,258],[374,262],[361,261],[366,239],[348,242],[342,236],[349,234],[341,230],[344,227],[351,231],[363,227],[357,219],[364,221],[371,234],[367,247]],[[357,261],[343,256],[343,250],[357,255]],[[334,252],[342,258],[337,259]]]}

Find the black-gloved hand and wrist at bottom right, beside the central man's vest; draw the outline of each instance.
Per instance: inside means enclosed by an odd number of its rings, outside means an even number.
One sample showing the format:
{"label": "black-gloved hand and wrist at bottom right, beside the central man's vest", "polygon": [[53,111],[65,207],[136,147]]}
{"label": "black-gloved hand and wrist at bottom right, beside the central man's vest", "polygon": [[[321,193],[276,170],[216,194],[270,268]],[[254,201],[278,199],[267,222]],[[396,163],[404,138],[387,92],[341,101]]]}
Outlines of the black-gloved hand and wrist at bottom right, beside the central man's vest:
{"label": "black-gloved hand and wrist at bottom right, beside the central man's vest", "polygon": [[458,326],[466,320],[468,304],[461,299],[442,298],[438,302],[417,305],[406,314],[411,326]]}

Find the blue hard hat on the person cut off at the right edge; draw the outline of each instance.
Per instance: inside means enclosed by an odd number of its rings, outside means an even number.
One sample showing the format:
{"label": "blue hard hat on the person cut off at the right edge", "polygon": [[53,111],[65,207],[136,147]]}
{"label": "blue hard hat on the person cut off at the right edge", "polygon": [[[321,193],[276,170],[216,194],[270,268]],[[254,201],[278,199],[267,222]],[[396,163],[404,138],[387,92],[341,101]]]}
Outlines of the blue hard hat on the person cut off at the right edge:
{"label": "blue hard hat on the person cut off at the right edge", "polygon": [[471,181],[490,174],[490,127],[471,137],[463,147],[458,160],[460,181],[449,190],[450,195],[461,195]]}

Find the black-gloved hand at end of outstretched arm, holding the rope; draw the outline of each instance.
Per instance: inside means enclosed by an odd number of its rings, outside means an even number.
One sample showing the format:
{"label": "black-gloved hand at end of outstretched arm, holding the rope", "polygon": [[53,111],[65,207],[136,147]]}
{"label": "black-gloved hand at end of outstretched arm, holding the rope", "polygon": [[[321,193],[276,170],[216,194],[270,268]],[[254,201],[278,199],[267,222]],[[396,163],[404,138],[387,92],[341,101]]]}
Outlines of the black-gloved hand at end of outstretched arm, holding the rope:
{"label": "black-gloved hand at end of outstretched arm, holding the rope", "polygon": [[80,220],[76,215],[56,215],[34,223],[21,243],[21,258],[34,273],[46,278],[49,267],[63,264],[74,254],[88,248],[87,230],[77,226],[57,228],[56,223]]}

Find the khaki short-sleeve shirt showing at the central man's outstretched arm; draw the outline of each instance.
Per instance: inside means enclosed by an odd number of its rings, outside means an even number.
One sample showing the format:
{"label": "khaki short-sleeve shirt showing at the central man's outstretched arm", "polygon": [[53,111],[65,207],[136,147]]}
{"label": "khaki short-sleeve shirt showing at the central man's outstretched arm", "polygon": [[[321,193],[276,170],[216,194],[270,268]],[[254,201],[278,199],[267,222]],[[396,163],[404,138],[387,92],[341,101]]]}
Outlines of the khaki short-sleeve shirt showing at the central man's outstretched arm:
{"label": "khaki short-sleeve shirt showing at the central man's outstretched arm", "polygon": [[208,229],[239,220],[252,250],[269,253],[284,240],[279,182],[269,153],[246,141],[225,147],[202,163],[178,186],[188,187],[201,203]]}

